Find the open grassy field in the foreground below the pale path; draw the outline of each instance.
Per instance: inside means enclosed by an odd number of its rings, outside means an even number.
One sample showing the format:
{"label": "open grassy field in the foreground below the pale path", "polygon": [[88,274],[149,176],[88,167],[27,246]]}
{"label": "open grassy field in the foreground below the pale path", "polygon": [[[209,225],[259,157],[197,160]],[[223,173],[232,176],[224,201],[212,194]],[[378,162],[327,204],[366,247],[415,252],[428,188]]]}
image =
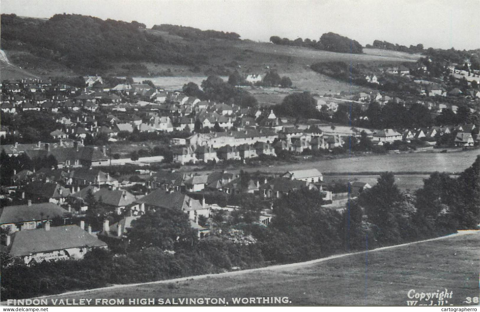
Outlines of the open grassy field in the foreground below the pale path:
{"label": "open grassy field in the foreground below the pale path", "polygon": [[[319,261],[47,298],[123,298],[125,302],[129,298],[226,298],[233,304],[232,297],[280,296],[288,297],[295,306],[405,306],[407,300],[416,300],[408,298],[411,289],[418,293],[446,289],[452,298],[444,305],[465,305],[467,297],[479,295],[479,245],[480,233],[475,232]],[[417,302],[420,304],[431,302]]]}

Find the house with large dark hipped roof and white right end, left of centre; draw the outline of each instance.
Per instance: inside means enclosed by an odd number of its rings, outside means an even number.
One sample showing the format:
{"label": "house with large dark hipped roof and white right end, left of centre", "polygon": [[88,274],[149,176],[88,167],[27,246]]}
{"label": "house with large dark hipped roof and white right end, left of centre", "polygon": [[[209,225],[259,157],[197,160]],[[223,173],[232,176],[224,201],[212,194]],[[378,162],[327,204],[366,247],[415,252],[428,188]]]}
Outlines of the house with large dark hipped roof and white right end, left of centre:
{"label": "house with large dark hipped roof and white right end, left of centre", "polygon": [[135,200],[132,206],[132,213],[141,214],[145,211],[165,211],[165,210],[181,210],[188,213],[189,219],[198,222],[198,217],[210,216],[210,206],[205,200],[194,200],[186,194],[179,192],[169,192],[163,189],[156,189],[139,200]]}

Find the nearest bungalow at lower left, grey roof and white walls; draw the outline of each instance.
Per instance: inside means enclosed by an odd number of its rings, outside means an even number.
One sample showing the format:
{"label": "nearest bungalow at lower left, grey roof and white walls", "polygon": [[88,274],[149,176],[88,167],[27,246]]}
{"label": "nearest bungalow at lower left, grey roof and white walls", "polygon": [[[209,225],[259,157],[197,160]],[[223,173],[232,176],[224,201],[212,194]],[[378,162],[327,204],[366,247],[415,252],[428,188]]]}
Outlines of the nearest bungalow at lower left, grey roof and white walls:
{"label": "nearest bungalow at lower left, grey roof and white walls", "polygon": [[52,226],[47,221],[43,228],[15,232],[7,237],[10,256],[21,258],[25,264],[67,259],[82,259],[96,248],[107,249],[106,243],[78,225]]}

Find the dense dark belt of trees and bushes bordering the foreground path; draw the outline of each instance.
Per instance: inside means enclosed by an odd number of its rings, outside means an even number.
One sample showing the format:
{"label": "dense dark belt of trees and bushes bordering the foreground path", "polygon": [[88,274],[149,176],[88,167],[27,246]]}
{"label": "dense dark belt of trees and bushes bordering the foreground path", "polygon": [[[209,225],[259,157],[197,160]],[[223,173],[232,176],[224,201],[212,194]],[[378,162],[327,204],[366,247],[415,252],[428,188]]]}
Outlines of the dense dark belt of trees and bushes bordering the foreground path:
{"label": "dense dark belt of trees and bushes bordering the foreground path", "polygon": [[[276,216],[268,227],[246,222],[258,208],[250,203],[234,220],[214,216],[214,228],[222,232],[202,240],[183,212],[148,212],[134,221],[132,243],[120,256],[95,250],[79,261],[26,267],[1,253],[2,298],[305,261],[365,250],[367,244],[374,249],[455,233],[480,222],[479,178],[480,157],[458,178],[432,174],[414,194],[401,193],[394,175],[384,173],[343,213],[321,208],[318,192],[301,189],[274,202]],[[20,280],[28,282],[19,287]]]}

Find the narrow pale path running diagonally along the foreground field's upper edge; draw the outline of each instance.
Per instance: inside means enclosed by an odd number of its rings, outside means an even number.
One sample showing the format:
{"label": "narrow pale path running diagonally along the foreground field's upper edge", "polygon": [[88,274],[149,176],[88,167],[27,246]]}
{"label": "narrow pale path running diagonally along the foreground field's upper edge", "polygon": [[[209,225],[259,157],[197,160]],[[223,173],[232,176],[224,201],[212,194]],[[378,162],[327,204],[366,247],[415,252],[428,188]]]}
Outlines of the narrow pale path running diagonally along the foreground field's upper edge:
{"label": "narrow pale path running diagonally along the foreground field's upper edge", "polygon": [[[316,264],[316,263],[320,263],[320,262],[329,261],[329,260],[332,260],[332,259],[337,259],[337,258],[342,258],[342,257],[347,257],[347,256],[352,256],[352,255],[357,255],[357,254],[365,254],[366,252],[376,252],[376,251],[380,251],[380,250],[393,249],[393,248],[404,247],[404,246],[409,246],[409,245],[413,245],[413,244],[430,242],[430,241],[439,240],[439,239],[456,237],[456,236],[460,236],[460,235],[472,235],[472,234],[473,235],[480,235],[480,230],[459,231],[456,234],[451,234],[451,235],[447,235],[447,236],[430,238],[430,239],[425,239],[425,240],[420,240],[420,241],[415,241],[415,242],[410,242],[410,243],[405,243],[405,244],[400,244],[400,245],[381,247],[381,248],[377,248],[377,249],[374,249],[374,250],[368,250],[368,251],[343,253],[343,254],[333,255],[333,256],[330,256],[330,257],[326,257],[326,258],[320,258],[320,259],[315,259],[315,260],[311,260],[311,261],[306,261],[306,262],[278,264],[278,265],[272,265],[272,266],[267,266],[267,267],[262,267],[262,268],[248,269],[248,270],[241,270],[241,271],[233,271],[233,272],[225,272],[225,273],[219,273],[219,274],[204,274],[204,275],[186,276],[186,277],[180,277],[180,278],[174,278],[174,279],[168,279],[168,280],[161,280],[161,281],[155,281],[155,282],[147,282],[147,283],[114,285],[114,286],[100,287],[100,288],[87,289],[87,290],[70,291],[70,292],[65,292],[65,293],[58,294],[58,295],[41,296],[41,297],[36,297],[36,298],[32,298],[32,299],[48,299],[48,298],[54,298],[54,297],[66,297],[66,296],[69,296],[69,295],[88,294],[88,293],[95,293],[97,291],[114,290],[114,289],[125,288],[125,287],[136,287],[136,286],[150,285],[150,284],[169,284],[169,283],[185,282],[185,281],[189,281],[189,280],[199,280],[199,279],[212,278],[212,277],[215,278],[215,277],[228,277],[228,276],[242,275],[242,274],[265,271],[265,270],[275,271],[275,270],[299,268],[299,267],[303,267],[303,266],[307,266],[307,265],[312,265],[312,264]],[[5,301],[1,302],[0,305],[6,305],[6,302]]]}

